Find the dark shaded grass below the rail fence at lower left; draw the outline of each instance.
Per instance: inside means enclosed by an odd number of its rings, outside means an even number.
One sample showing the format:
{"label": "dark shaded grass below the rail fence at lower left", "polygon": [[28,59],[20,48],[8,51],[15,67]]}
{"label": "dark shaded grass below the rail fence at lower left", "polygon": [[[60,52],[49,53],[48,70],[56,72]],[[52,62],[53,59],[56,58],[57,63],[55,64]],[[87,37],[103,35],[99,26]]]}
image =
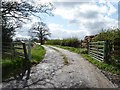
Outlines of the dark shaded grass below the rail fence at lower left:
{"label": "dark shaded grass below the rail fence at lower left", "polygon": [[2,62],[0,62],[0,64],[2,64],[2,79],[4,80],[21,72],[22,63],[23,60],[17,58],[15,60],[8,58],[2,60]]}

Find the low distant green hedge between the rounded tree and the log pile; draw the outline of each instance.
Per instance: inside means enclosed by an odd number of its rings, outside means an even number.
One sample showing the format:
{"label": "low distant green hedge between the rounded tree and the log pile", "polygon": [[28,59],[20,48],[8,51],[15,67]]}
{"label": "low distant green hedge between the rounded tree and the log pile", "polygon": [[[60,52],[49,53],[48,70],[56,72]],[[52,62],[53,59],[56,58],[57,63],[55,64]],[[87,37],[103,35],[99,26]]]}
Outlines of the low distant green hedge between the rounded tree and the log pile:
{"label": "low distant green hedge between the rounded tree and the log pile", "polygon": [[55,39],[55,40],[47,40],[46,44],[70,46],[70,47],[78,48],[80,47],[80,40],[78,38],[67,38],[62,40]]}

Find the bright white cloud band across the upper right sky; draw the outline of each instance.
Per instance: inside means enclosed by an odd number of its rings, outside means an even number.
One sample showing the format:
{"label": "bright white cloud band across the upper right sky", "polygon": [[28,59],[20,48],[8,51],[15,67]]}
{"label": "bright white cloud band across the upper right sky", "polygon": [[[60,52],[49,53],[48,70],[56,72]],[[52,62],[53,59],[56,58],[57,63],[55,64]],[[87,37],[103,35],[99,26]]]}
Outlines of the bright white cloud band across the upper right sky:
{"label": "bright white cloud band across the upper right sky", "polygon": [[69,20],[77,18],[76,14],[77,15],[82,14],[83,17],[84,17],[84,15],[85,16],[88,15],[91,18],[91,16],[94,17],[94,14],[95,15],[96,14],[111,15],[117,11],[117,9],[110,2],[107,2],[106,5],[101,4],[100,6],[98,6],[96,3],[86,3],[86,4],[79,3],[79,5],[76,5],[76,6],[66,7],[72,3],[68,2],[68,3],[63,3],[63,4],[64,4],[64,6],[62,6],[62,5],[58,6],[58,7],[56,6],[56,9],[53,11],[53,13],[55,15],[59,15],[65,19],[69,19]]}

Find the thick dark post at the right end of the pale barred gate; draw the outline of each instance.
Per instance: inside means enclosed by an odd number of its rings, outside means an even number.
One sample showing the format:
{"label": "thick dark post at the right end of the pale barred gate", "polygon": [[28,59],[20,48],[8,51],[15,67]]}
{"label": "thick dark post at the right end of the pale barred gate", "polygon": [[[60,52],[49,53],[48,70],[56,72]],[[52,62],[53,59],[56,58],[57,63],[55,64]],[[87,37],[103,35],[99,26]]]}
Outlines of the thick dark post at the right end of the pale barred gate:
{"label": "thick dark post at the right end of the pale barred gate", "polygon": [[104,62],[105,63],[110,63],[110,41],[105,41],[104,45]]}

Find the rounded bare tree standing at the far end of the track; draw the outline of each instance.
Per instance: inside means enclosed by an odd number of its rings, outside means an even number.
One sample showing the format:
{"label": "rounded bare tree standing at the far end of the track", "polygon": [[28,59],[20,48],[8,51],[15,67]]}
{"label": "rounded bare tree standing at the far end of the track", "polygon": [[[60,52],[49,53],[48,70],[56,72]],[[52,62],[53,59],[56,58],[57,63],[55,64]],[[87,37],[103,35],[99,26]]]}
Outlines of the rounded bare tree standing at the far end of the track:
{"label": "rounded bare tree standing at the far end of the track", "polygon": [[33,30],[32,33],[35,34],[35,37],[39,38],[39,42],[41,43],[41,45],[44,44],[48,36],[51,35],[51,33],[49,32],[49,28],[43,22],[34,23],[31,29]]}

